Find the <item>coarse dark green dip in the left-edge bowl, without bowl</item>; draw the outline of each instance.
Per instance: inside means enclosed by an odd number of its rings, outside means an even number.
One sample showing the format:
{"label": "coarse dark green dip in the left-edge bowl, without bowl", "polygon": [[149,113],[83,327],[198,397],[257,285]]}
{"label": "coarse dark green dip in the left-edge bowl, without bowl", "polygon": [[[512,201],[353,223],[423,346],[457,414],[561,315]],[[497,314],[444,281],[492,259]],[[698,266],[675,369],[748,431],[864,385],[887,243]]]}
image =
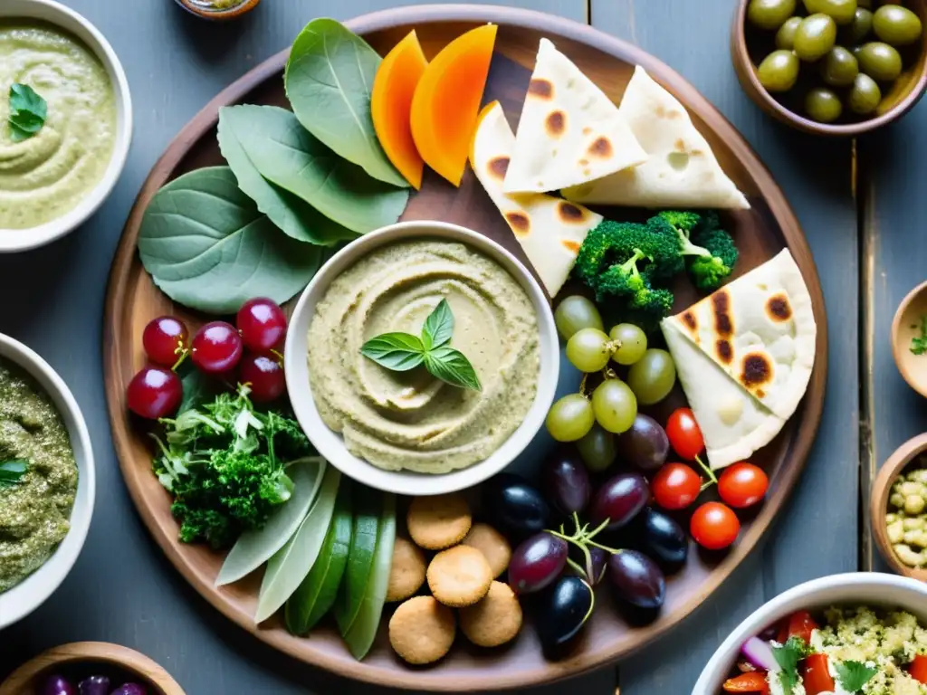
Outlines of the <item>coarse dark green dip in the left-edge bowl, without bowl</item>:
{"label": "coarse dark green dip in the left-edge bowl, without bowl", "polygon": [[0,592],[51,557],[70,529],[77,463],[68,430],[31,376],[0,358],[0,461],[26,460],[12,486],[0,486]]}

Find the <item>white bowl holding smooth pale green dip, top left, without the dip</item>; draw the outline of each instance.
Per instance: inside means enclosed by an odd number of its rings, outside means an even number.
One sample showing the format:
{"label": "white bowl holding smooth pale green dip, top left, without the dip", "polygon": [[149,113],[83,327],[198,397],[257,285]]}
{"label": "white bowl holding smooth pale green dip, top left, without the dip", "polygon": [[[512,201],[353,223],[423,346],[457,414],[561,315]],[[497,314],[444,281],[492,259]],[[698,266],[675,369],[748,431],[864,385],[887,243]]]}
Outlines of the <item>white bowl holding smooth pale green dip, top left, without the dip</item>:
{"label": "white bowl holding smooth pale green dip, top left, without the dip", "polygon": [[[116,142],[103,178],[76,208],[38,227],[0,229],[0,253],[15,253],[44,246],[83,224],[112,192],[125,166],[132,142],[132,96],[129,94],[129,82],[116,52],[103,38],[103,34],[77,12],[53,0],[3,0],[0,3],[0,19],[13,18],[38,19],[55,24],[74,34],[95,53],[107,70],[116,97]],[[0,98],[6,98],[6,95],[0,95]]]}

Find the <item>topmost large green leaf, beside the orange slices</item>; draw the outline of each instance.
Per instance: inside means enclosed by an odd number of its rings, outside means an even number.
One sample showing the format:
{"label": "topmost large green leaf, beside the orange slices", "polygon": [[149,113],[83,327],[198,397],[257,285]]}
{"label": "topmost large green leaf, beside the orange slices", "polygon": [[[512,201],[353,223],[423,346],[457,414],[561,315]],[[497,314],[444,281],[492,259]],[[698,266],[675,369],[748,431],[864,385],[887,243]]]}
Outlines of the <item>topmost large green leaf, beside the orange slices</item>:
{"label": "topmost large green leaf, beside the orange slices", "polygon": [[299,33],[284,79],[299,122],[375,179],[406,188],[376,139],[370,92],[380,57],[335,19],[313,19]]}

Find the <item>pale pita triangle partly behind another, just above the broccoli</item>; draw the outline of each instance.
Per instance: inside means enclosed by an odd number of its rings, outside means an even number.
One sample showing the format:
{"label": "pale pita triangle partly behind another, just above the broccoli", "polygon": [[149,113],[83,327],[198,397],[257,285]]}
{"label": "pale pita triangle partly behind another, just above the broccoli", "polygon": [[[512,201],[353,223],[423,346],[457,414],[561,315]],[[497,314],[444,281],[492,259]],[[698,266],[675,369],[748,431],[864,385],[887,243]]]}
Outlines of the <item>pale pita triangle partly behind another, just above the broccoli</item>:
{"label": "pale pita triangle partly behind another, just above the broccoli", "polygon": [[640,208],[749,208],[675,96],[638,66],[618,108],[647,152],[633,169],[563,192],[578,203]]}

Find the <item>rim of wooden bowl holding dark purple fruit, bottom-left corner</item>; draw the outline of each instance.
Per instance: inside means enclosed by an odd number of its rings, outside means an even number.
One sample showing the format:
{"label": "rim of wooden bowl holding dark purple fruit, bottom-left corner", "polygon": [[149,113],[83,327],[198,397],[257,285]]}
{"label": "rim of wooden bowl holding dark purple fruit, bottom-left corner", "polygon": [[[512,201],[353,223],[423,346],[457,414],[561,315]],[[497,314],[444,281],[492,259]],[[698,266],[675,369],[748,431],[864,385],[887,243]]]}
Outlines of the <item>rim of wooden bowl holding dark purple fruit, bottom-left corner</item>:
{"label": "rim of wooden bowl holding dark purple fruit, bottom-left corner", "polygon": [[[104,673],[112,670],[131,676],[149,695],[184,695],[177,681],[145,654],[108,642],[73,642],[44,651],[0,683],[0,695],[36,695],[45,676],[71,671],[79,663],[98,664]],[[114,683],[113,688],[119,685]]]}

